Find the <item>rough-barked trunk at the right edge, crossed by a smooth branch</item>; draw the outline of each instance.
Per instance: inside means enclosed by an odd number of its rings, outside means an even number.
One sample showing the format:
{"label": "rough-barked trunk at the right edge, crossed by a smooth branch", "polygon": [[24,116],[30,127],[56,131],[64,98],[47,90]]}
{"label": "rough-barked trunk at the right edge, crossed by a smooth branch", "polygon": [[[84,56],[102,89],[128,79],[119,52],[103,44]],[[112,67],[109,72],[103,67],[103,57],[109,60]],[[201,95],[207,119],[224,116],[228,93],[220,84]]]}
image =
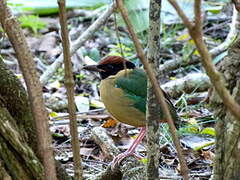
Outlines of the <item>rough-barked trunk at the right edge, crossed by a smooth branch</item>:
{"label": "rough-barked trunk at the right edge, crossed by a smooth branch", "polygon": [[[240,39],[230,46],[228,56],[218,65],[218,70],[224,76],[225,86],[238,103],[240,103],[239,52]],[[237,180],[240,176],[240,121],[227,110],[215,90],[213,90],[210,100],[217,117],[213,179]]]}

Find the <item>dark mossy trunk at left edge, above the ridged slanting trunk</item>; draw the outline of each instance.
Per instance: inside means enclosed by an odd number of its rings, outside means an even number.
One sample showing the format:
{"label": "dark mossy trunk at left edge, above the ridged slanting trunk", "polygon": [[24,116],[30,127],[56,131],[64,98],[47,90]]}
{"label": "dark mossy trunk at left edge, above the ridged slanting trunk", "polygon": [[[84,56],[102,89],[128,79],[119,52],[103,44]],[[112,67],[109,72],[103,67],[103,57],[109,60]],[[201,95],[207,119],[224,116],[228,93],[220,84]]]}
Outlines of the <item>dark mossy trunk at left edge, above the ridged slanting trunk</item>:
{"label": "dark mossy trunk at left edge, above the ridged slanting trunk", "polygon": [[20,81],[5,67],[0,59],[0,100],[16,120],[21,136],[36,151],[36,133],[27,94]]}

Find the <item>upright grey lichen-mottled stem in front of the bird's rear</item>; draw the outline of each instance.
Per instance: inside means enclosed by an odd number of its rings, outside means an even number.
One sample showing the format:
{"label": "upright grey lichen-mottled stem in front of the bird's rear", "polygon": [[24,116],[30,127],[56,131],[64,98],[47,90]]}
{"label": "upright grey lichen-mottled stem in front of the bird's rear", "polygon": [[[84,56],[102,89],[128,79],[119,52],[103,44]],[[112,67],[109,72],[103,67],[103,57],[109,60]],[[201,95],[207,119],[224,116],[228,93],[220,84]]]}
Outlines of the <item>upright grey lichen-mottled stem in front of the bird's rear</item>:
{"label": "upright grey lichen-mottled stem in front of the bird's rear", "polygon": [[[149,35],[148,35],[148,53],[147,60],[149,66],[159,74],[160,59],[160,14],[161,1],[150,0],[149,6]],[[158,79],[158,77],[157,77]],[[156,104],[154,90],[151,82],[148,80],[147,94],[147,179],[159,179],[159,115],[156,114]]]}

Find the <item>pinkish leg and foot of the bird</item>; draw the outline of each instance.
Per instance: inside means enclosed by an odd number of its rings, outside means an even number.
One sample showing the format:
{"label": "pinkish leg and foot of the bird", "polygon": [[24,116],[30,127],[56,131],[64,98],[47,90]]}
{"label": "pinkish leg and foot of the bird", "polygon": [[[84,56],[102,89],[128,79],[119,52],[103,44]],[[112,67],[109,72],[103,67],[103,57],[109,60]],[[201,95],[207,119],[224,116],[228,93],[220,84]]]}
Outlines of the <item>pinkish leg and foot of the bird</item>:
{"label": "pinkish leg and foot of the bird", "polygon": [[146,134],[146,128],[143,127],[143,128],[141,128],[140,133],[138,134],[137,138],[133,141],[132,145],[125,152],[117,155],[113,159],[113,161],[111,163],[111,167],[114,168],[117,164],[119,164],[127,156],[135,156],[137,159],[141,159],[142,157],[137,155],[135,153],[135,150],[136,150],[138,144],[144,138],[145,134]]}

